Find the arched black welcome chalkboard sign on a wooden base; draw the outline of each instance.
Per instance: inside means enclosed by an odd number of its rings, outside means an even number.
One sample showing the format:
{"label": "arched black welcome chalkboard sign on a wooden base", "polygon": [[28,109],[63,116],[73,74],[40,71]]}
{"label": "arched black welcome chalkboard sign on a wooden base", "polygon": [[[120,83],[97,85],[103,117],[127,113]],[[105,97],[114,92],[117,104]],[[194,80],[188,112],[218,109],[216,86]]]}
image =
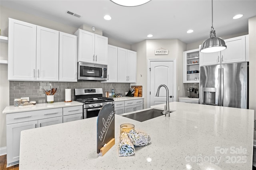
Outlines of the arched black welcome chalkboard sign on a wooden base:
{"label": "arched black welcome chalkboard sign on a wooden base", "polygon": [[114,145],[114,138],[115,111],[112,104],[106,104],[100,109],[97,119],[97,153],[100,156],[103,156]]}

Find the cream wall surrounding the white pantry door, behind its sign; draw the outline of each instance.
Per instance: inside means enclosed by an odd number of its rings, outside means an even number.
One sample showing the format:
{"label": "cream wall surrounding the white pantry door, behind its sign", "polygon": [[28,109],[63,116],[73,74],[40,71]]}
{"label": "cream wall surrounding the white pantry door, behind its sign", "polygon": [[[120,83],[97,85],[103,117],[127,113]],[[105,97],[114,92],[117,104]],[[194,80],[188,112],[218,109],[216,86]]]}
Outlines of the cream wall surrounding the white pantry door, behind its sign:
{"label": "cream wall surrounding the white pantry door, behind its sign", "polygon": [[[155,55],[156,49],[167,49],[168,55]],[[150,39],[132,45],[132,50],[137,51],[137,83],[131,85],[142,86],[144,97],[144,108],[147,108],[148,89],[148,59],[176,59],[176,84],[181,90],[176,89],[176,101],[178,97],[185,96],[183,85],[183,51],[186,51],[186,44],[178,39]],[[142,76],[141,76],[142,75]]]}

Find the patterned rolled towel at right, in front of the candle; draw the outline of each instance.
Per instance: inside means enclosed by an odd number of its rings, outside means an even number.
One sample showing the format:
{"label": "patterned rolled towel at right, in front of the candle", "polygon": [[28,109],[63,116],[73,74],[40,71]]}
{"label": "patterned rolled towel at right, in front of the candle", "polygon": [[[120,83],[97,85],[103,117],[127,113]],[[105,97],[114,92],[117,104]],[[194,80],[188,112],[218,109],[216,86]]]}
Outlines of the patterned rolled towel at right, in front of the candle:
{"label": "patterned rolled towel at right, in front of the candle", "polygon": [[145,146],[151,143],[151,138],[147,133],[137,132],[134,129],[130,130],[128,134],[130,141],[134,146]]}

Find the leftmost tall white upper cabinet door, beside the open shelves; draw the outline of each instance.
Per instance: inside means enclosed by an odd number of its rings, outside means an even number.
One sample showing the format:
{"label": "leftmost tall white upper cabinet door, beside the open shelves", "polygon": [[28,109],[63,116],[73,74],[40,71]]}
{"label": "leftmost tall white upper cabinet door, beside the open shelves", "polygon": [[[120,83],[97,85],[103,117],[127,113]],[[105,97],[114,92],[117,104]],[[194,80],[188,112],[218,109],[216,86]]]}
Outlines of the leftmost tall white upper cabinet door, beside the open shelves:
{"label": "leftmost tall white upper cabinet door, beside the open shelves", "polygon": [[35,80],[36,25],[9,18],[8,80]]}

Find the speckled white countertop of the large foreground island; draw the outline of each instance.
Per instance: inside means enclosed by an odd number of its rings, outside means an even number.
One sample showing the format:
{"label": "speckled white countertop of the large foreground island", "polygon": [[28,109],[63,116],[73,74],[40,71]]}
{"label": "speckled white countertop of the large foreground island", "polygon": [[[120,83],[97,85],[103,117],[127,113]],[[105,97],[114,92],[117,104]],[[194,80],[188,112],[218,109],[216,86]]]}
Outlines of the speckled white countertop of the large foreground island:
{"label": "speckled white countertop of the large foreground island", "polygon": [[[254,110],[183,102],[170,109],[170,117],[144,122],[116,115],[115,145],[104,156],[96,153],[97,117],[22,131],[19,168],[252,169]],[[118,156],[122,123],[148,133],[152,143]]]}

